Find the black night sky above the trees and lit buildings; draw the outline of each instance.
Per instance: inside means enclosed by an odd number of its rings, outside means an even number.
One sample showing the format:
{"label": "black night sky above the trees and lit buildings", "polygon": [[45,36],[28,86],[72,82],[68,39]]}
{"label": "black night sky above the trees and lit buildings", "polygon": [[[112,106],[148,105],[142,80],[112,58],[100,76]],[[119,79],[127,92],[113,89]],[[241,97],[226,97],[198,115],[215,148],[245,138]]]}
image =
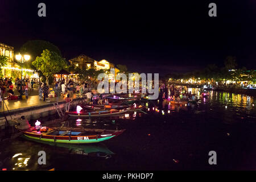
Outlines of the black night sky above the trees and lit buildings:
{"label": "black night sky above the trees and lit buildings", "polygon": [[[47,16],[38,16],[38,3]],[[167,3],[168,2],[168,3]],[[208,5],[217,4],[217,17]],[[69,60],[81,53],[129,71],[189,72],[226,56],[256,69],[256,1],[0,0],[0,42],[15,51],[47,40]]]}

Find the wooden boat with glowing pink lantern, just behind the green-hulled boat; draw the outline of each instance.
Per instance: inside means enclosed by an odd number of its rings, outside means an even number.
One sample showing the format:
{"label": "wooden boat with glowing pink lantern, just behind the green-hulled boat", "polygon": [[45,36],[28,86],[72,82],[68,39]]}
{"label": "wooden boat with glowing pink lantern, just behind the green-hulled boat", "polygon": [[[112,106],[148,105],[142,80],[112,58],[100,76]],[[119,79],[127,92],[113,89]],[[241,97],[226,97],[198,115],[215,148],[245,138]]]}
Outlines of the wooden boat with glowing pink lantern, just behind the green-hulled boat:
{"label": "wooden boat with glowing pink lantern, just behind the green-hulled boat", "polygon": [[104,116],[111,116],[115,114],[122,114],[129,111],[131,108],[128,107],[126,109],[117,110],[117,109],[110,109],[110,110],[96,110],[96,111],[86,111],[81,110],[80,112],[77,111],[69,111],[66,112],[71,117],[104,117]]}

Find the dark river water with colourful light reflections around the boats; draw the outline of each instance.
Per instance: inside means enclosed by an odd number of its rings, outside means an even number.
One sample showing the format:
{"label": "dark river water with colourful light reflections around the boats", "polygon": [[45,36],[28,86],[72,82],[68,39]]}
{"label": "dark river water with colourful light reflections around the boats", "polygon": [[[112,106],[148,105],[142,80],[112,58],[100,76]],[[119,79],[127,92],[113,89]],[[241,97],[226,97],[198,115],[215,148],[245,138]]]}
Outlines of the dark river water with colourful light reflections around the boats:
{"label": "dark river water with colourful light reflections around the boats", "polygon": [[[192,93],[197,89],[189,88]],[[146,103],[144,103],[146,105]],[[156,106],[154,105],[156,104]],[[8,170],[255,170],[255,98],[210,92],[197,105],[148,102],[144,113],[117,117],[69,118],[70,125],[127,129],[99,144],[49,145],[23,138],[1,143],[0,168]],[[154,110],[152,110],[154,107]],[[159,113],[155,111],[156,107]],[[164,114],[162,113],[162,110]],[[170,110],[170,111],[168,111]],[[170,112],[170,113],[168,113]],[[56,124],[56,126],[60,126]],[[38,151],[47,164],[38,164]],[[209,165],[209,151],[217,165]],[[19,156],[13,156],[20,154]],[[176,162],[175,162],[176,161]]]}

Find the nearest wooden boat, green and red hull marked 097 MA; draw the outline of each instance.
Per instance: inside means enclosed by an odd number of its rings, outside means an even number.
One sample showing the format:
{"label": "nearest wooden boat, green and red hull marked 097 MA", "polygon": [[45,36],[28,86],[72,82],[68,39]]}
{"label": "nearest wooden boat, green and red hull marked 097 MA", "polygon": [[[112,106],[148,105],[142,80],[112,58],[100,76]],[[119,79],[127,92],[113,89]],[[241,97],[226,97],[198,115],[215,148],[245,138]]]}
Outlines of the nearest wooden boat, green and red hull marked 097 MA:
{"label": "nearest wooden boat, green and red hull marked 097 MA", "polygon": [[117,137],[123,130],[102,130],[102,129],[84,129],[84,128],[52,128],[46,133],[34,130],[30,127],[27,130],[21,130],[25,137],[34,140],[43,140],[56,143],[98,143]]}

